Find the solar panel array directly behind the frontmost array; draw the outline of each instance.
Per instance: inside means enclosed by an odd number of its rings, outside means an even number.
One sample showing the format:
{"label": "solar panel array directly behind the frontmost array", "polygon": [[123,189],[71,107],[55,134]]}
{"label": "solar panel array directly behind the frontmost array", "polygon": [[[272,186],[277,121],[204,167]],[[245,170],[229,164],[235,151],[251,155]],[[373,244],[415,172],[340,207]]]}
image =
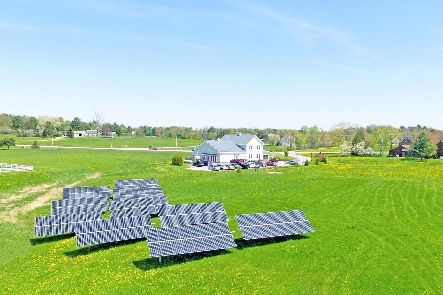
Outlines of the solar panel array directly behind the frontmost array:
{"label": "solar panel array directly behind the frontmost array", "polygon": [[228,221],[225,209],[220,202],[160,206],[159,217],[162,226]]}

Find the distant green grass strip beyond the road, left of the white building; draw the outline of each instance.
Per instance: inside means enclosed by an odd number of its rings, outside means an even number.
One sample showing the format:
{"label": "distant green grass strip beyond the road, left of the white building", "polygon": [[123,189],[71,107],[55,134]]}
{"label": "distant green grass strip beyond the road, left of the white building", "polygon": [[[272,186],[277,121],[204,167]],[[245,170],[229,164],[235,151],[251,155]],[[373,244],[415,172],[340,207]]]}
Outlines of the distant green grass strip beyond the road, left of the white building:
{"label": "distant green grass strip beyond the road, left of the white building", "polygon": [[[34,140],[27,141],[25,137],[16,137],[16,144],[31,145]],[[19,142],[20,140],[20,142]],[[24,141],[23,141],[24,140]],[[43,144],[50,146],[50,141],[43,141],[43,139],[37,139],[41,146]],[[54,140],[54,146],[80,146],[80,147],[111,147],[112,138],[108,137],[76,137],[76,138],[62,138]],[[197,146],[202,143],[202,140],[197,139],[183,139],[179,138],[177,140],[177,146]],[[128,148],[147,148],[148,146],[153,147],[171,147],[175,146],[175,138],[171,137],[130,137],[130,136],[119,136],[114,137],[112,142],[113,148],[123,148],[124,146]]]}

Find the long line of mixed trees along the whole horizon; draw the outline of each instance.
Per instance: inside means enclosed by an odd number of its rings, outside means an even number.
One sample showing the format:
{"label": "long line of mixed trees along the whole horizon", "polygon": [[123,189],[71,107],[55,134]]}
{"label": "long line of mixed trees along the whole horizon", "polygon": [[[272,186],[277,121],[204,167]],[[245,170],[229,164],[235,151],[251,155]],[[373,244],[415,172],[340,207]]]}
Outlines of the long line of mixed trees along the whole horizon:
{"label": "long line of mixed trees along the whole horizon", "polygon": [[307,149],[317,147],[340,146],[343,142],[351,142],[354,145],[362,141],[365,148],[374,147],[380,151],[392,148],[394,139],[400,137],[416,138],[418,134],[424,132],[432,143],[443,139],[442,130],[436,130],[427,126],[400,126],[399,128],[385,125],[368,125],[366,127],[351,123],[339,122],[323,130],[318,125],[301,126],[300,129],[276,129],[276,128],[217,128],[214,126],[205,128],[192,128],[185,126],[125,126],[117,122],[105,122],[103,113],[96,111],[93,119],[89,122],[75,117],[64,120],[62,117],[33,117],[26,115],[0,114],[0,132],[18,133],[25,137],[51,138],[66,134],[74,136],[73,131],[84,131],[88,129],[99,130],[105,136],[110,136],[112,132],[118,135],[135,136],[156,136],[188,139],[217,139],[225,134],[255,134],[260,139],[271,145],[279,145],[280,139],[285,137],[289,142],[289,149]]}

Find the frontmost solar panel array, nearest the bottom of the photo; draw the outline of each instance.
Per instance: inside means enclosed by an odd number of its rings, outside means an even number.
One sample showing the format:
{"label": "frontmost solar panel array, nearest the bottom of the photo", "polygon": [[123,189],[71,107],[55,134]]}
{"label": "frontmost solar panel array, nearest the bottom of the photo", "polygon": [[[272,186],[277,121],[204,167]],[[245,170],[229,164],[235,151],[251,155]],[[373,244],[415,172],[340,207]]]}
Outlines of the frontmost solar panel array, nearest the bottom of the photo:
{"label": "frontmost solar panel array, nearest the bottom of the photo", "polygon": [[151,258],[237,247],[226,222],[148,228],[146,237]]}

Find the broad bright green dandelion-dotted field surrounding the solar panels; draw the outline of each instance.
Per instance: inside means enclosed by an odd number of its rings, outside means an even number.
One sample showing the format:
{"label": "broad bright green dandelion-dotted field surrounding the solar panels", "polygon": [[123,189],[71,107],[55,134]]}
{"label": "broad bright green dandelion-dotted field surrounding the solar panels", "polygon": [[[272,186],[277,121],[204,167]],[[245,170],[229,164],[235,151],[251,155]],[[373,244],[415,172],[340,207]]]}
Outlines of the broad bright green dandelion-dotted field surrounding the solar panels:
{"label": "broad bright green dandelion-dotted field surrounding the solar panels", "polygon": [[[237,173],[172,166],[174,154],[0,150],[1,162],[35,169],[0,173],[2,294],[442,293],[443,161],[328,157]],[[158,178],[171,204],[221,201],[231,230],[236,214],[302,209],[315,232],[249,243],[235,232],[235,249],[161,263],[146,240],[88,252],[74,234],[33,238],[62,187],[136,178]]]}

